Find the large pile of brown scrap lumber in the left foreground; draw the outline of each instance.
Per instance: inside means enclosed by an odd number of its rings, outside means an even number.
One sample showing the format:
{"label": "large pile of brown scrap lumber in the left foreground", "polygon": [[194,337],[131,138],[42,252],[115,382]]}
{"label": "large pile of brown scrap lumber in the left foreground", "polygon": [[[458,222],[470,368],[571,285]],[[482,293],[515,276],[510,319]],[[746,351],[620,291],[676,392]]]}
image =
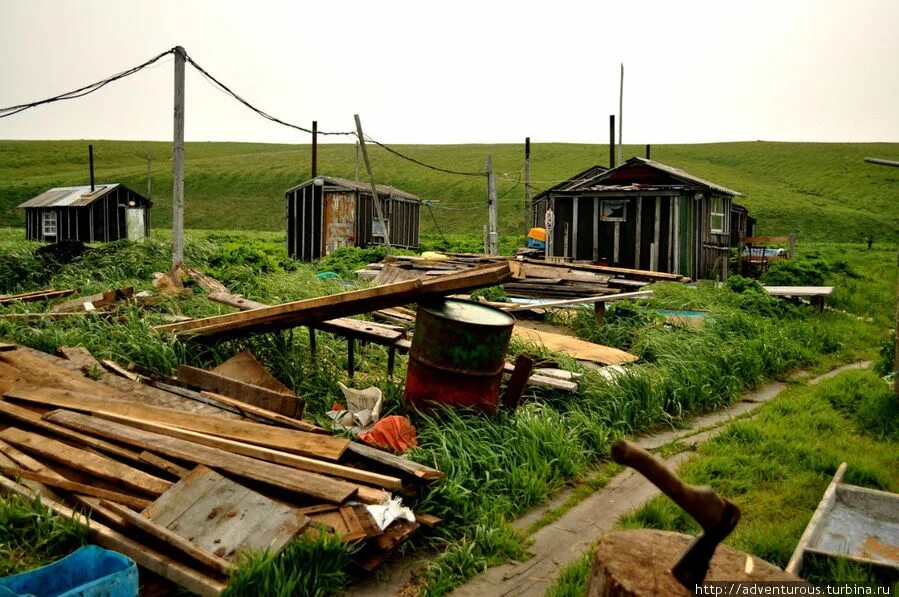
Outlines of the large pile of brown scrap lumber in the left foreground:
{"label": "large pile of brown scrap lumber in the left foreground", "polygon": [[301,420],[248,354],[145,380],[62,352],[0,346],[0,490],[90,512],[93,542],[192,592],[219,594],[242,550],[301,534],[357,544],[371,571],[439,523],[390,500],[442,473]]}

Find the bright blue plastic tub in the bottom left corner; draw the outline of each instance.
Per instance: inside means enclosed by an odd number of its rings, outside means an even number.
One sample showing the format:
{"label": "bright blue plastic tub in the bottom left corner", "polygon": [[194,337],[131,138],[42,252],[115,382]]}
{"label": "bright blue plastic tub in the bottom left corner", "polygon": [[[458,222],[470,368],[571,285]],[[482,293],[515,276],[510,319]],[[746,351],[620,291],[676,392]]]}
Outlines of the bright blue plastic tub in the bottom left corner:
{"label": "bright blue plastic tub in the bottom left corner", "polygon": [[41,568],[0,578],[0,597],[137,597],[137,564],[85,545]]}

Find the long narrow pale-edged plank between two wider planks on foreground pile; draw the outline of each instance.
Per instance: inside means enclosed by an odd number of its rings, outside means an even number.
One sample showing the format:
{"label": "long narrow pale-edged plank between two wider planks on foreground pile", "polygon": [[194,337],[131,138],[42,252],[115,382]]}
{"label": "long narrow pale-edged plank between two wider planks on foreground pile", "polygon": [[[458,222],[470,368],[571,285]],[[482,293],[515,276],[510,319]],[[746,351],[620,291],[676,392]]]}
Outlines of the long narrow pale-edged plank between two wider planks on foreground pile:
{"label": "long narrow pale-edged plank between two wider planks on foreground pile", "polygon": [[124,425],[144,429],[145,431],[152,431],[153,433],[160,433],[169,437],[176,437],[204,446],[219,448],[221,450],[225,450],[226,452],[231,452],[232,454],[242,454],[243,456],[249,456],[250,458],[257,458],[259,460],[264,460],[265,462],[281,464],[302,471],[321,473],[323,475],[328,475],[331,477],[360,481],[362,483],[375,485],[377,487],[383,487],[385,489],[403,488],[402,481],[397,477],[380,475],[378,473],[372,473],[349,466],[343,466],[340,464],[335,464],[333,462],[316,460],[314,458],[306,458],[305,456],[298,456],[296,454],[288,454],[287,452],[271,450],[262,446],[254,446],[252,444],[225,439],[222,437],[216,437],[214,435],[197,433],[196,431],[190,431],[187,429],[179,429],[170,425],[136,422],[126,417],[119,417],[116,415],[100,414],[98,416],[110,421],[122,423]]}

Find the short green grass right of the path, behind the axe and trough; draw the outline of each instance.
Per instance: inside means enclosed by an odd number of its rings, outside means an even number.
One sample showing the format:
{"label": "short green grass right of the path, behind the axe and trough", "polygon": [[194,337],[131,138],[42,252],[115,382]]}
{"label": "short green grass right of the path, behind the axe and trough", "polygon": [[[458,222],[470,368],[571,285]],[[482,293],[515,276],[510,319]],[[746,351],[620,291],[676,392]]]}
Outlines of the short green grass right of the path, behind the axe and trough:
{"label": "short green grass right of the path, behind the axe and trough", "polygon": [[[884,416],[895,421],[899,406],[891,387],[869,371],[843,373],[817,386],[796,385],[763,406],[758,416],[737,421],[701,444],[699,456],[678,475],[712,486],[740,507],[742,520],[727,544],[783,567],[841,462],[848,462],[846,483],[899,491],[899,435],[894,423],[886,433],[872,425],[864,415],[871,405],[890,409]],[[628,514],[620,525],[699,532],[664,497]],[[547,594],[583,595],[588,561],[585,556],[563,571]],[[848,562],[810,566],[803,576],[820,583],[873,580]]]}

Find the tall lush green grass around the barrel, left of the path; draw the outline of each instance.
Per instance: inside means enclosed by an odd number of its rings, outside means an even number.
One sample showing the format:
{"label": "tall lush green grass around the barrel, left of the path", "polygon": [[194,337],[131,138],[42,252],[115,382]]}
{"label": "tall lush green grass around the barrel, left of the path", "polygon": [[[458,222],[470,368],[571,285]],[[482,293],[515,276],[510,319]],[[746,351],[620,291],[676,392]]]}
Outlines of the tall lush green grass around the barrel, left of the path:
{"label": "tall lush green grass around the barrel, left of the path", "polygon": [[[57,264],[39,261],[34,255],[38,245],[19,240],[17,234],[0,232],[0,292],[47,286],[77,286],[86,293],[125,285],[147,290],[152,273],[168,269],[163,235],[140,244],[98,245],[78,261]],[[860,249],[842,250],[857,263],[853,267],[860,277],[853,280],[880,272],[867,253],[857,257]],[[299,264],[286,259],[279,233],[222,231],[193,231],[185,251],[189,264],[214,272],[248,298],[271,304],[343,291],[340,283],[317,280],[319,268],[351,269],[353,259],[364,257],[353,253],[337,265]],[[419,588],[426,595],[445,594],[488,566],[525,557],[527,537],[516,532],[511,521],[589,475],[606,455],[611,439],[660,425],[680,425],[797,367],[872,357],[883,335],[877,321],[887,320],[880,313],[886,301],[877,297],[890,288],[890,282],[859,287],[869,300],[853,304],[855,313],[874,317],[874,323],[838,312],[816,315],[765,295],[737,294],[710,285],[698,289],[659,285],[656,296],[640,308],[610,309],[603,327],[596,325],[592,311],[585,310],[574,321],[580,335],[632,350],[642,364],[611,383],[570,358],[558,357],[583,373],[577,394],[529,390],[525,405],[515,413],[486,417],[451,411],[415,421],[420,448],[412,457],[446,473],[443,482],[412,500],[417,509],[445,521],[416,543],[438,554],[419,577]],[[192,297],[165,299],[141,310],[122,308],[111,321],[93,316],[30,325],[0,320],[0,338],[47,352],[60,345],[82,345],[97,358],[137,362],[167,373],[180,363],[214,366],[248,347],[306,400],[309,416],[324,422],[324,412],[340,397],[336,382],[345,380],[345,343],[322,334],[319,358],[313,360],[308,335],[301,330],[214,345],[181,343],[150,332],[167,316],[229,311],[208,301],[201,289],[192,290]],[[653,308],[662,307],[707,309],[708,322],[702,328],[666,327],[652,315]],[[0,313],[46,308],[42,303],[20,304]],[[535,348],[514,342],[511,352]],[[404,378],[406,360],[397,359],[396,379],[390,381],[386,356],[383,347],[360,348],[359,372],[352,383],[377,385],[385,392],[386,414],[402,414],[402,386],[397,380]],[[596,483],[601,482],[597,478]],[[284,574],[292,578],[294,573]],[[285,582],[292,582],[290,578]],[[322,582],[328,578],[324,574]]]}

